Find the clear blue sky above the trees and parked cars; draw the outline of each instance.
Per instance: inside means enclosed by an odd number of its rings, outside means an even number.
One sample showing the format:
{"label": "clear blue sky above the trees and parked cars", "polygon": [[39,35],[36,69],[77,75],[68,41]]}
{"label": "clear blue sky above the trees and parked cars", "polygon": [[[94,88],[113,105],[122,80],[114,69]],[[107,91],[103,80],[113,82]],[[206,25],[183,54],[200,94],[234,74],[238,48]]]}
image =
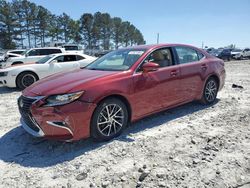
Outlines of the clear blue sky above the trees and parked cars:
{"label": "clear blue sky above the trees and parked cars", "polygon": [[109,13],[134,24],[147,44],[250,47],[250,0],[30,0],[73,19]]}

